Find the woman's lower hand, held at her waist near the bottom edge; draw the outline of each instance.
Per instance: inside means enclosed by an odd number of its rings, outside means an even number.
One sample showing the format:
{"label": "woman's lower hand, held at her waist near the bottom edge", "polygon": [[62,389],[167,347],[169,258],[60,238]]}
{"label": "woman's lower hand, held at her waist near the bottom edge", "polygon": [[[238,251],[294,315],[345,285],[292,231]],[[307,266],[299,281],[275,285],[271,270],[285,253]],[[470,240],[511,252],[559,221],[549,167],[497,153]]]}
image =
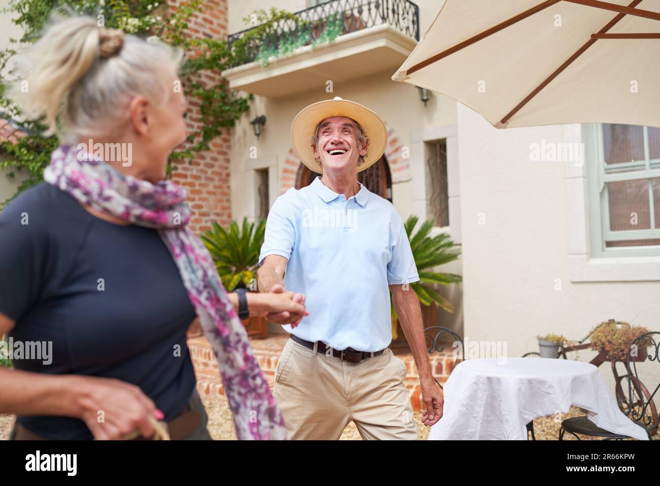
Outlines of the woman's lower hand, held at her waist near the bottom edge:
{"label": "woman's lower hand, held at her waist near the bottom edge", "polygon": [[121,439],[139,431],[143,437],[154,434],[150,417],[164,419],[162,411],[139,386],[114,378],[77,376],[80,388],[75,388],[75,401],[81,409],[80,419],[100,440]]}

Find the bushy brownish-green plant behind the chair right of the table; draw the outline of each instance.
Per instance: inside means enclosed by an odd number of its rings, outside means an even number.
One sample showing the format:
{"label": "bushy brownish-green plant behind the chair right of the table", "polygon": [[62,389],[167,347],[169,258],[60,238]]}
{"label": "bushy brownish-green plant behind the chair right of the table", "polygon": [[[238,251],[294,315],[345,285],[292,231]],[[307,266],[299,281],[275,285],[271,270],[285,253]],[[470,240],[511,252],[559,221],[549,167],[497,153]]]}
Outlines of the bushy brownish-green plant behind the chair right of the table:
{"label": "bushy brownish-green plant behind the chair right of the table", "polygon": [[[607,361],[626,362],[628,348],[632,341],[647,333],[643,326],[631,326],[627,322],[610,319],[597,325],[591,331],[591,349],[603,353]],[[631,353],[632,361],[644,361],[647,357],[647,347],[651,345],[649,337],[638,343],[637,353]]]}

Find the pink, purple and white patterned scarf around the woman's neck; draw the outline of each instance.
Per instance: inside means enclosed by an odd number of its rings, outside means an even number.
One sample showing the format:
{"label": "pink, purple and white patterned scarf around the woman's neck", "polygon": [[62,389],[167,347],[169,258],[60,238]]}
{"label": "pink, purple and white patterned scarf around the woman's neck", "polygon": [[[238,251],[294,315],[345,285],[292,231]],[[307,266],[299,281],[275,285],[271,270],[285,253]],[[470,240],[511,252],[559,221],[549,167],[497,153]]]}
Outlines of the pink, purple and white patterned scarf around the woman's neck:
{"label": "pink, purple and white patterned scarf around the woman's neck", "polygon": [[186,227],[190,219],[184,202],[187,191],[169,180],[151,184],[123,176],[103,160],[69,146],[53,152],[44,180],[84,205],[134,225],[158,229],[215,351],[239,440],[286,438],[282,414],[213,258]]}

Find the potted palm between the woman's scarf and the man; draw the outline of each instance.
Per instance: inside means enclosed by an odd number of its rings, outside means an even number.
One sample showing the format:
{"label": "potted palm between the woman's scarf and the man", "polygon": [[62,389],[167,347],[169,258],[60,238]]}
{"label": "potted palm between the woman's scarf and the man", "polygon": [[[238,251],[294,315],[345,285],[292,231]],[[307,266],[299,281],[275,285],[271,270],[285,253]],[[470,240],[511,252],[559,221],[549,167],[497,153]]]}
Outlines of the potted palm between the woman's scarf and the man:
{"label": "potted palm between the woman's scarf and the man", "polygon": [[[259,252],[265,229],[265,219],[261,218],[255,226],[244,218],[240,228],[236,221],[232,221],[226,230],[213,223],[213,228],[201,236],[227,292],[240,288],[257,292]],[[263,316],[251,316],[243,324],[249,337],[268,336],[268,322]]]}

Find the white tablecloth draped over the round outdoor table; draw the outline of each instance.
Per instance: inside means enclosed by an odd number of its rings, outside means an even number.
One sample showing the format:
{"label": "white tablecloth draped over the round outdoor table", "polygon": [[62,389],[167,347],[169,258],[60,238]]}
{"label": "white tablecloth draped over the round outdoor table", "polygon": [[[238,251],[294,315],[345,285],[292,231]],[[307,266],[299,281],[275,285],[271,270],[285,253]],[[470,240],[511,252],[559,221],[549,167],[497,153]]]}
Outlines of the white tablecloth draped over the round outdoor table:
{"label": "white tablecloth draped over the round outdoor table", "polygon": [[581,361],[468,359],[449,375],[444,396],[442,419],[429,440],[526,440],[527,423],[567,413],[571,405],[586,409],[602,429],[648,440],[620,411],[598,368]]}

